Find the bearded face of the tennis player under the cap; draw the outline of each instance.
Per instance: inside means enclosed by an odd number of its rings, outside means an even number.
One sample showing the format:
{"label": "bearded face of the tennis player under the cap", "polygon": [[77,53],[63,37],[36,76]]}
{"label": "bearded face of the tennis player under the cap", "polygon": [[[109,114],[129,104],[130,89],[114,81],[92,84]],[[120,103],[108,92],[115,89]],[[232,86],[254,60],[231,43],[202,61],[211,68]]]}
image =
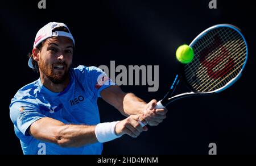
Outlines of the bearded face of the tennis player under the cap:
{"label": "bearded face of the tennis player under the cap", "polygon": [[59,36],[47,39],[40,51],[38,67],[53,84],[61,84],[68,78],[73,57],[71,39]]}

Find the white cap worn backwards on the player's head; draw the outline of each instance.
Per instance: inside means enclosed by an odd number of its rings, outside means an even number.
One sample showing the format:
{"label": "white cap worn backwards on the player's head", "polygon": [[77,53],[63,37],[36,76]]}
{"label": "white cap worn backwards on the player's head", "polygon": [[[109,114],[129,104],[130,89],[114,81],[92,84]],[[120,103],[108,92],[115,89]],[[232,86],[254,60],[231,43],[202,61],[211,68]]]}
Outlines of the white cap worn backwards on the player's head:
{"label": "white cap worn backwards on the player's head", "polygon": [[[52,32],[52,30],[57,27],[65,27],[65,28],[67,28],[68,32],[64,32],[64,31]],[[71,32],[69,31],[69,28],[64,23],[50,22],[50,23],[46,24],[43,28],[41,28],[38,31],[38,33],[36,34],[33,48],[36,48],[36,46],[38,46],[38,44],[42,43],[44,40],[51,38],[53,36],[65,36],[67,38],[70,38],[70,39],[72,39],[73,44],[75,45],[75,40],[74,40]],[[28,66],[30,68],[34,69],[34,67],[32,65],[32,56],[28,60]]]}

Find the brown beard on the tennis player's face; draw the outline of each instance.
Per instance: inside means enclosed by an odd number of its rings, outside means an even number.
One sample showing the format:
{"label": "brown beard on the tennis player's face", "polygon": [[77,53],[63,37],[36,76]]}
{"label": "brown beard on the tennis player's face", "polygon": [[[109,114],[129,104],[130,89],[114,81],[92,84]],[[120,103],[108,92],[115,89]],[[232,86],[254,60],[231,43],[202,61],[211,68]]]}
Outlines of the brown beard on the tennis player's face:
{"label": "brown beard on the tennis player's face", "polygon": [[[64,73],[60,71],[55,72],[53,68],[54,65],[63,65],[65,69]],[[69,76],[69,67],[65,62],[55,63],[52,65],[48,65],[42,62],[38,63],[38,67],[53,84],[63,84]]]}

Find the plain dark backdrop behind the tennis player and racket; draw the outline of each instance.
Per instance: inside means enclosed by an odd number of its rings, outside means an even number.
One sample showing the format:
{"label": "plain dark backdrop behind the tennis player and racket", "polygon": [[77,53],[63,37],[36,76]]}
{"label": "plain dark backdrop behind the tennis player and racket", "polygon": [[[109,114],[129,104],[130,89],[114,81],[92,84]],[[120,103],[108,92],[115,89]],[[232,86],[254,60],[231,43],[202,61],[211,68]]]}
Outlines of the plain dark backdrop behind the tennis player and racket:
{"label": "plain dark backdrop behind the tennis player and racket", "polygon": [[[220,1],[210,10],[210,0],[200,1],[3,1],[1,19],[1,153],[21,154],[9,117],[16,91],[39,75],[27,66],[36,32],[48,22],[64,22],[75,40],[73,67],[108,65],[159,65],[159,90],[147,86],[122,86],[149,102],[161,99],[176,73],[176,48],[189,44],[214,24],[241,28],[249,45],[243,76],[228,90],[205,97],[185,98],[168,106],[168,118],[149,127],[137,139],[125,135],[104,144],[104,154],[255,154],[255,22],[253,1]],[[117,75],[117,74],[116,74]],[[182,90],[182,89],[181,89]],[[123,119],[99,99],[102,122]]]}

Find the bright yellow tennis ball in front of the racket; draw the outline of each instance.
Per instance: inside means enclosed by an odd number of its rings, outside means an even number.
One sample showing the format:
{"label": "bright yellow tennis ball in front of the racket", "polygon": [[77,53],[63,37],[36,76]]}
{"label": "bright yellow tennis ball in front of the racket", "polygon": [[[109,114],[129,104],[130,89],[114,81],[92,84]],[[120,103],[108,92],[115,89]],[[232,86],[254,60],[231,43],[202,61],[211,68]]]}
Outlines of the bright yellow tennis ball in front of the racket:
{"label": "bright yellow tennis ball in front of the racket", "polygon": [[176,58],[178,61],[180,61],[180,63],[190,63],[194,58],[194,51],[187,44],[181,45],[179,48],[177,48]]}

